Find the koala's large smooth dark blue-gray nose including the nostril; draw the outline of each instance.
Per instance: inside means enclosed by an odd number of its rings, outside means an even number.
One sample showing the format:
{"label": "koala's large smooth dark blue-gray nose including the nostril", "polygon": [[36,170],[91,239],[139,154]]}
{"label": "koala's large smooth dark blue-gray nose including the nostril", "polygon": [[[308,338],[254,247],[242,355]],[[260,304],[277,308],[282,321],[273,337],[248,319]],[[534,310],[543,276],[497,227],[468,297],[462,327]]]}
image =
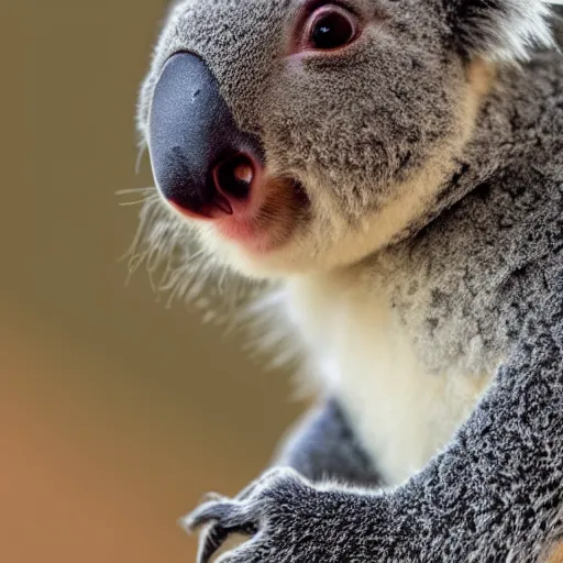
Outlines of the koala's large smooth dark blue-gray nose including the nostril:
{"label": "koala's large smooth dark blue-gray nose including the nostril", "polygon": [[216,78],[190,53],[172,56],[156,84],[148,150],[164,197],[199,217],[231,214],[263,166],[260,143],[236,126]]}

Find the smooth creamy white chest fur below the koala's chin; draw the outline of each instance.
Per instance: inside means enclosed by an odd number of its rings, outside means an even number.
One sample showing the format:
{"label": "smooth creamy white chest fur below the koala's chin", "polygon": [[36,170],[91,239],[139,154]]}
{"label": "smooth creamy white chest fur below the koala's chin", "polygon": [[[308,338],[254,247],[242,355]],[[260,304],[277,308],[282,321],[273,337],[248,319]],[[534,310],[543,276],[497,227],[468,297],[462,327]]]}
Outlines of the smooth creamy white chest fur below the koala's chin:
{"label": "smooth creamy white chest fur below the koala's chin", "polygon": [[489,374],[428,373],[383,291],[358,280],[288,285],[311,371],[340,398],[389,484],[422,468],[467,418]]}

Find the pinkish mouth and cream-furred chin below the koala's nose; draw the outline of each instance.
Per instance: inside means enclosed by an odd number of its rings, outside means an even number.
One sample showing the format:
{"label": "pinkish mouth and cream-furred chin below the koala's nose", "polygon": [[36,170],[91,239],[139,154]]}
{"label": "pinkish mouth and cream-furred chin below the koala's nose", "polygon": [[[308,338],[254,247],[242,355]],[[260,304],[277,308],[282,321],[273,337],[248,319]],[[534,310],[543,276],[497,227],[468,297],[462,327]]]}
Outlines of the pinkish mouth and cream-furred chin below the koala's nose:
{"label": "pinkish mouth and cream-furred chin below the koala's nose", "polygon": [[420,196],[406,191],[352,218],[314,180],[268,179],[253,190],[232,213],[188,220],[208,256],[254,279],[325,273],[361,261],[411,223]]}

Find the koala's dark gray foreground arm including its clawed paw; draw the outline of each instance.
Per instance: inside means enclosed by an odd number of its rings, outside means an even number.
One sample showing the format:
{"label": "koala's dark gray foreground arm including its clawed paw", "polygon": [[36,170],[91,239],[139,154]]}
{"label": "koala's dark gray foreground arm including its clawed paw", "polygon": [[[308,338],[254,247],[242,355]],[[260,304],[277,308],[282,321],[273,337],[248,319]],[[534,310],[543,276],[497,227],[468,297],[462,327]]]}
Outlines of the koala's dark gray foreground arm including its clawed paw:
{"label": "koala's dark gray foreground arm including its clawed paw", "polygon": [[[563,287],[563,279],[559,280]],[[560,294],[558,294],[560,295]],[[449,448],[390,492],[271,472],[242,501],[202,505],[188,528],[250,526],[222,563],[542,561],[563,531],[563,309],[526,338]]]}

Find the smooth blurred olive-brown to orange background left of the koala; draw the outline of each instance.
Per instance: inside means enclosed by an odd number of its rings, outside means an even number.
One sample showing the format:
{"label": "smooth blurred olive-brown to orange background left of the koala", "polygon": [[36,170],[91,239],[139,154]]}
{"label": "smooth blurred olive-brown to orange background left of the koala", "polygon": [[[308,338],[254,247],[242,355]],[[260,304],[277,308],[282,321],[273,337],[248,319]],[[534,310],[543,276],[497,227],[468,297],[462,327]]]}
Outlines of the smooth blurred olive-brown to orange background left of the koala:
{"label": "smooth blurred olive-brown to orange background left of the koala", "polygon": [[2,0],[0,561],[194,561],[176,525],[234,494],[299,406],[240,339],[118,258],[134,107],[164,0]]}

